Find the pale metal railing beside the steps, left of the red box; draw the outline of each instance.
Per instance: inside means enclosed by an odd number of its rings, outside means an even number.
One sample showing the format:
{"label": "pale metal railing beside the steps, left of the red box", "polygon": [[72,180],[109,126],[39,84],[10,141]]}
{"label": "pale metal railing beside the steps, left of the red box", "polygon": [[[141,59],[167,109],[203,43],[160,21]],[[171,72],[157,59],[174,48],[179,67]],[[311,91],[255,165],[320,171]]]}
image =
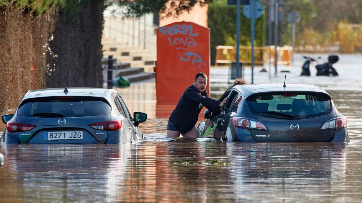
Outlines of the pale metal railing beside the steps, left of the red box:
{"label": "pale metal railing beside the steps, left of the red box", "polygon": [[115,38],[117,42],[126,42],[130,46],[148,49],[156,54],[156,29],[148,25],[146,17],[122,18],[120,16],[104,17],[104,38]]}

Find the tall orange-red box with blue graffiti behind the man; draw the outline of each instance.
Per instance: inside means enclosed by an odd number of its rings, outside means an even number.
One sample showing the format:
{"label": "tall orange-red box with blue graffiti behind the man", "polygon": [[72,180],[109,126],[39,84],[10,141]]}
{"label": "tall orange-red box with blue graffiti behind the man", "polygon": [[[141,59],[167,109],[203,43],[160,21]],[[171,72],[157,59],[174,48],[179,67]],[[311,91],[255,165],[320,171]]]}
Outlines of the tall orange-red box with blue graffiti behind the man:
{"label": "tall orange-red box with blue graffiti behind the man", "polygon": [[[209,77],[210,29],[174,22],[157,29],[157,102],[177,102],[197,73]],[[209,80],[207,81],[209,91]]]}

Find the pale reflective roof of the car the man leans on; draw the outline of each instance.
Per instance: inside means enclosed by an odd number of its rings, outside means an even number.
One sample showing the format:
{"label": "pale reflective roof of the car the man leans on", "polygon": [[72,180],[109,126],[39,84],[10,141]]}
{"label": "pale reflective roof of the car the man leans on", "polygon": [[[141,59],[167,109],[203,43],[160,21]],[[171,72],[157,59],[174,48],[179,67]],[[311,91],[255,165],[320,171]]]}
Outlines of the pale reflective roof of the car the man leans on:
{"label": "pale reflective roof of the car the man leans on", "polygon": [[302,91],[302,92],[320,92],[329,94],[320,88],[317,85],[306,85],[306,84],[285,84],[286,87],[283,87],[283,83],[265,83],[265,84],[250,84],[250,85],[235,85],[232,88],[243,92],[245,98],[252,94],[262,93],[262,92],[281,92],[281,91]]}

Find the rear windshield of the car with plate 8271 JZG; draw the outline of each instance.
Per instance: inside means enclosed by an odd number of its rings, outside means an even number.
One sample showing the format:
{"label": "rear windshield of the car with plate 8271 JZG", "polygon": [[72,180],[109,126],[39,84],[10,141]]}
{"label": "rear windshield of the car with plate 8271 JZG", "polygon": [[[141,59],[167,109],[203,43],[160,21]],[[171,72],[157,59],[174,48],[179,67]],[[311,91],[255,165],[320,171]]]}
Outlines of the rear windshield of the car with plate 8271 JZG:
{"label": "rear windshield of the car with plate 8271 JZG", "polygon": [[[24,100],[18,108],[20,116],[82,117],[109,114],[111,107],[104,98],[90,96],[56,96]],[[34,115],[35,114],[35,115]]]}

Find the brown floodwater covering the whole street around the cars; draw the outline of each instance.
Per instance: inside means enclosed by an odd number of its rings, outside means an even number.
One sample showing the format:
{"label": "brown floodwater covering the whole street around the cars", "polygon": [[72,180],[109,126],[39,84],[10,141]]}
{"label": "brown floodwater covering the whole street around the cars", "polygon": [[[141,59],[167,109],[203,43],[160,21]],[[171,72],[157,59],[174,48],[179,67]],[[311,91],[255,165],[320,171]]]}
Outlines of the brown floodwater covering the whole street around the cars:
{"label": "brown floodwater covering the whole street around the cars", "polygon": [[[321,86],[347,117],[350,143],[169,141],[163,138],[175,104],[157,104],[154,82],[139,83],[117,90],[131,112],[148,113],[140,124],[145,139],[112,145],[2,143],[0,201],[362,202],[362,57],[340,55],[334,65],[340,76],[333,78],[299,77],[302,63],[297,55],[294,66],[279,66],[290,73],[271,77],[257,67],[254,82],[283,83],[287,75],[287,84]],[[219,98],[230,86],[228,70],[210,72],[211,97]],[[245,69],[248,81],[250,72]]]}

